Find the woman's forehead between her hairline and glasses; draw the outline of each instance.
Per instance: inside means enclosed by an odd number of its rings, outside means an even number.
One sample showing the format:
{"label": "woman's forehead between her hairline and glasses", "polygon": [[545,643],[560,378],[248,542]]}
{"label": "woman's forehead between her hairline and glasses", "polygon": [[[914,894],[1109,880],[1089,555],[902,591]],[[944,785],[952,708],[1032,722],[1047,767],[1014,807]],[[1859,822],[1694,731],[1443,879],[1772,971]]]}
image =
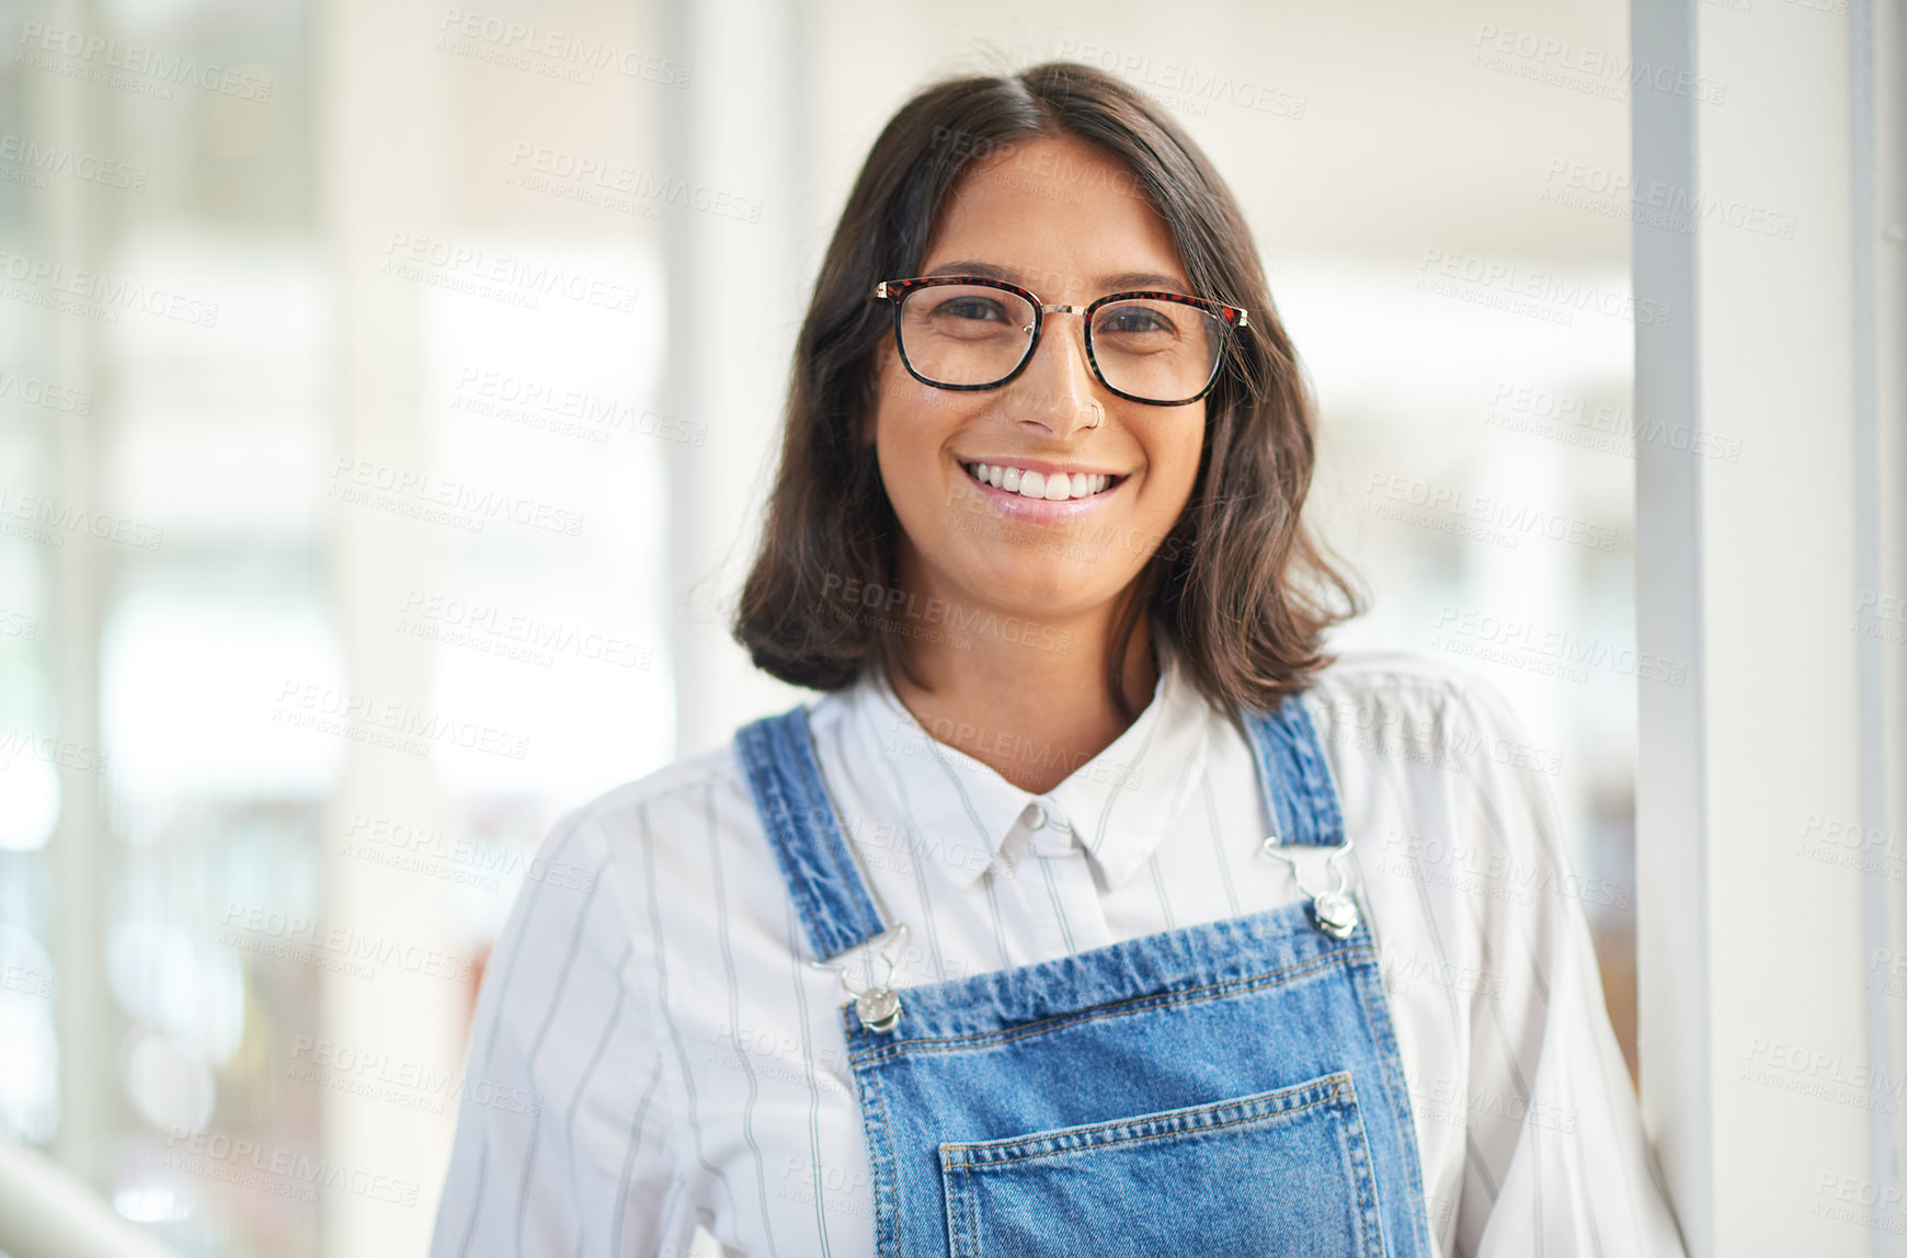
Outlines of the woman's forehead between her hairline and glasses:
{"label": "woman's forehead between her hairline and glasses", "polygon": [[988,263],[1053,301],[1186,284],[1165,219],[1131,170],[1072,137],[1020,141],[961,172],[921,274],[954,261]]}

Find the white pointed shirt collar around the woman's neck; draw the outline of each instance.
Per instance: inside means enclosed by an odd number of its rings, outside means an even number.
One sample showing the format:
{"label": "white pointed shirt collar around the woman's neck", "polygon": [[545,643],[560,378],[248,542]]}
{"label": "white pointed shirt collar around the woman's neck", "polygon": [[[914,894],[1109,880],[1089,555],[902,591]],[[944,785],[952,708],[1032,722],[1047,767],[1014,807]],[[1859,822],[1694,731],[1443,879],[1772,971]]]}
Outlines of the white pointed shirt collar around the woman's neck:
{"label": "white pointed shirt collar around the woman's neck", "polygon": [[[1211,709],[1177,652],[1154,642],[1159,679],[1152,701],[1045,795],[933,738],[881,669],[866,669],[849,696],[852,724],[866,762],[879,764],[896,818],[915,831],[915,858],[938,865],[957,886],[971,886],[988,867],[1011,867],[1024,856],[1020,820],[1028,804],[1041,804],[1049,818],[1072,827],[1104,886],[1133,877],[1198,787],[1211,732]],[[1020,842],[1009,846],[1016,831]]]}

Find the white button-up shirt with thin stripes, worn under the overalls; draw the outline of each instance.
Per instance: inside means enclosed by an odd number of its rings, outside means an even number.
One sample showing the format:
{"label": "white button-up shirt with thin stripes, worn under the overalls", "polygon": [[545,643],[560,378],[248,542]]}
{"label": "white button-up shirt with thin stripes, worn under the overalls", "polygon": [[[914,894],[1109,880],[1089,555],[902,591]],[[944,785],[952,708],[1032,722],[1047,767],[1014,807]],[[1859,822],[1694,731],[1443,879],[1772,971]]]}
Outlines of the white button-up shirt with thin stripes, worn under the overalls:
{"label": "white button-up shirt with thin stripes, worn under the overalls", "polygon": [[[896,987],[1302,894],[1259,846],[1243,732],[1159,654],[1152,703],[1045,795],[929,738],[877,669],[810,703],[845,837],[883,921],[910,926]],[[1682,1254],[1581,905],[1629,892],[1571,873],[1503,700],[1446,665],[1350,656],[1304,701],[1438,1252]],[[578,808],[542,858],[568,873],[524,884],[486,966],[433,1258],[687,1254],[698,1226],[751,1258],[871,1254],[847,995],[809,964],[732,747]],[[1329,884],[1322,862],[1306,883]],[[484,1104],[524,1090],[536,1113]]]}

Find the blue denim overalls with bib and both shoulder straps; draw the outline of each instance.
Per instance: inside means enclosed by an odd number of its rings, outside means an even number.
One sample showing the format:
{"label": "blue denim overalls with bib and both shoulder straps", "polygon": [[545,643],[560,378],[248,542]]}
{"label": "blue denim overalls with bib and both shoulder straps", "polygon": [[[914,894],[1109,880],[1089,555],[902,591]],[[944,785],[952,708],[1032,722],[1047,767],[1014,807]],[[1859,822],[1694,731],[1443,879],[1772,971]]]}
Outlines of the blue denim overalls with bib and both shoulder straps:
{"label": "blue denim overalls with bib and both shoulder straps", "polygon": [[[1276,839],[1343,842],[1297,696],[1241,719]],[[814,957],[887,934],[807,709],[744,726],[736,753]],[[873,989],[841,1018],[883,1258],[1432,1252],[1377,945],[1348,896]]]}

